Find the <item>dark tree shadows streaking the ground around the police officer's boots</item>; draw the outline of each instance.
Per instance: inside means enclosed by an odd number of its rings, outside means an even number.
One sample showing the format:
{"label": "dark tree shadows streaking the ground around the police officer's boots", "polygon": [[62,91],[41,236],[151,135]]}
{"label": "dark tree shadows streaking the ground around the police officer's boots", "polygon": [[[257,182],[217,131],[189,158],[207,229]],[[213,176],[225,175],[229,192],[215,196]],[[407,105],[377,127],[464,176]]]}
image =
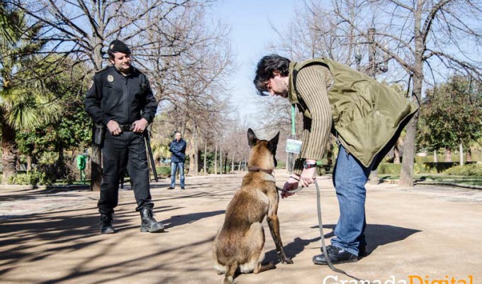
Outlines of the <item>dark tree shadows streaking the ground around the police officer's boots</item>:
{"label": "dark tree shadows streaking the ground around the police officer's boots", "polygon": [[[157,211],[169,209],[157,207]],[[155,210],[156,210],[155,209]],[[174,216],[168,219],[170,226],[179,226],[199,219],[223,214],[223,210],[213,212],[201,212],[186,215]],[[67,280],[82,282],[82,278],[91,274],[106,275],[109,281],[123,282],[124,278],[130,278],[138,273],[152,273],[157,271],[167,271],[172,263],[185,262],[186,250],[195,246],[204,246],[213,241],[209,236],[205,239],[189,242],[186,245],[172,244],[169,247],[154,247],[146,250],[142,256],[132,256],[130,258],[111,259],[108,263],[99,264],[92,267],[90,263],[98,262],[104,258],[114,246],[129,244],[128,240],[135,241],[142,238],[148,239],[149,236],[142,235],[138,231],[132,231],[133,218],[138,218],[138,212],[133,210],[120,209],[114,214],[114,225],[116,235],[122,234],[122,240],[118,244],[112,244],[112,237],[99,234],[99,213],[95,207],[83,209],[57,210],[43,214],[29,214],[13,219],[4,219],[0,223],[0,278],[9,282],[9,278],[4,277],[7,273],[21,269],[23,266],[36,266],[48,261],[50,258],[65,256],[67,262],[75,263],[72,269],[65,269],[63,275],[52,277],[50,280],[40,281],[38,278],[30,278],[29,275],[21,275],[21,283],[65,283]],[[140,219],[139,219],[140,221]],[[129,231],[130,230],[130,231]],[[80,251],[90,251],[96,247],[96,251],[86,255],[78,254]],[[155,259],[172,253],[174,258],[170,263],[145,263],[146,259]],[[79,256],[82,256],[79,258]],[[189,259],[189,258],[188,258]],[[59,266],[62,266],[60,263]],[[135,269],[125,269],[135,268]],[[164,278],[165,283],[171,277]],[[40,282],[39,282],[40,281]],[[175,280],[174,280],[175,281]],[[103,282],[99,278],[99,282]],[[175,282],[174,282],[175,283]]]}

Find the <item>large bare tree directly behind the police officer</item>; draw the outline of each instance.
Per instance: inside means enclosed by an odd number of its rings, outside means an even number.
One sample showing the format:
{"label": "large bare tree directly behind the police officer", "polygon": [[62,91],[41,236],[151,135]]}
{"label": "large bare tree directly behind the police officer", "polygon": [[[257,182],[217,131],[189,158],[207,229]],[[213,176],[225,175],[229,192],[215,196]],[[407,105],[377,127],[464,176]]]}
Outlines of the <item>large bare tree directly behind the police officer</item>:
{"label": "large bare tree directly behind the police officer", "polygon": [[[146,46],[152,42],[145,41],[150,33],[163,33],[161,45],[174,46],[179,43],[179,35],[175,28],[159,31],[179,23],[189,15],[189,7],[210,2],[194,0],[107,0],[107,1],[18,1],[16,6],[22,9],[31,19],[45,26],[40,35],[41,40],[49,43],[49,48],[43,51],[47,54],[65,55],[77,61],[87,61],[94,70],[103,67],[106,54],[106,44],[115,38],[124,40],[131,46],[134,53],[143,55]],[[155,19],[155,21],[154,21]],[[156,23],[156,24],[155,24]],[[187,44],[189,45],[189,43]],[[184,45],[186,46],[186,45]],[[158,49],[152,56],[172,58],[184,50]],[[163,53],[164,51],[168,51]],[[142,66],[142,65],[141,65]],[[156,81],[157,82],[157,81]],[[92,144],[92,178],[91,189],[100,189],[101,151]]]}

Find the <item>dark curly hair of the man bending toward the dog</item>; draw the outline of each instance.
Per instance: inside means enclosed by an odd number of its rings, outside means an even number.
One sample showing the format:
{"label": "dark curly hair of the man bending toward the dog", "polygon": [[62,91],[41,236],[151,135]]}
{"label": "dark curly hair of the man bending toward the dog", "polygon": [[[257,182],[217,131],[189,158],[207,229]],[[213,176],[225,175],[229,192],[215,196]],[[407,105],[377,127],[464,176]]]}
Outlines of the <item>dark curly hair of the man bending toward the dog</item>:
{"label": "dark curly hair of the man bending toward the dog", "polygon": [[256,76],[253,80],[254,87],[256,87],[259,95],[264,95],[263,92],[267,91],[266,82],[274,77],[274,71],[279,71],[281,76],[284,77],[289,75],[289,62],[291,61],[288,58],[277,54],[267,55],[259,60],[256,68]]}

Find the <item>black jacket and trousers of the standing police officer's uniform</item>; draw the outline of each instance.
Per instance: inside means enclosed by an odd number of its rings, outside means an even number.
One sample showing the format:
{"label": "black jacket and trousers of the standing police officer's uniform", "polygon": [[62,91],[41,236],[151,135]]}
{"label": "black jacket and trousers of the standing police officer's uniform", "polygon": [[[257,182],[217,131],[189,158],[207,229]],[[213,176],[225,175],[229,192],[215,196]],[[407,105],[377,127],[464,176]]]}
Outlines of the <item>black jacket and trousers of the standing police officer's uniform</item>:
{"label": "black jacket and trousers of the standing police officer's uniform", "polygon": [[106,131],[102,147],[103,177],[99,212],[112,214],[118,204],[120,177],[127,166],[134,188],[136,211],[154,207],[149,188],[149,168],[142,133],[129,131],[130,124],[142,117],[151,123],[157,102],[152,94],[149,80],[135,67],[130,75],[122,75],[111,65],[94,75],[86,94],[85,109],[96,124],[107,126],[117,121],[123,130],[119,136]]}

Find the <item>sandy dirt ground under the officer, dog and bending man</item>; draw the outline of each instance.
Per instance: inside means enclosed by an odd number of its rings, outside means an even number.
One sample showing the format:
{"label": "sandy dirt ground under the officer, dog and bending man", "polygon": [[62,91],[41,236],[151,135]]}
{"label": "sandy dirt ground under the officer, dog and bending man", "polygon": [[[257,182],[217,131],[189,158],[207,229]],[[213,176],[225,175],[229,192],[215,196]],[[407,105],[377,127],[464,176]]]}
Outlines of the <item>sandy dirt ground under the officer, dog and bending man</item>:
{"label": "sandy dirt ground under the officer, dog and bending man", "polygon": [[[120,191],[116,234],[99,234],[99,192],[0,190],[0,283],[221,283],[211,245],[243,173],[186,178],[186,190],[151,185],[162,234],[140,233],[133,192]],[[288,177],[276,172],[279,186]],[[329,177],[318,178],[327,244],[338,204]],[[482,190],[367,185],[369,256],[337,266],[377,284],[482,283]],[[280,264],[267,236],[265,261],[277,268],[239,275],[239,284],[356,283],[327,266],[320,253],[315,187],[279,205],[281,237],[291,265]],[[447,281],[442,282],[442,281]]]}

